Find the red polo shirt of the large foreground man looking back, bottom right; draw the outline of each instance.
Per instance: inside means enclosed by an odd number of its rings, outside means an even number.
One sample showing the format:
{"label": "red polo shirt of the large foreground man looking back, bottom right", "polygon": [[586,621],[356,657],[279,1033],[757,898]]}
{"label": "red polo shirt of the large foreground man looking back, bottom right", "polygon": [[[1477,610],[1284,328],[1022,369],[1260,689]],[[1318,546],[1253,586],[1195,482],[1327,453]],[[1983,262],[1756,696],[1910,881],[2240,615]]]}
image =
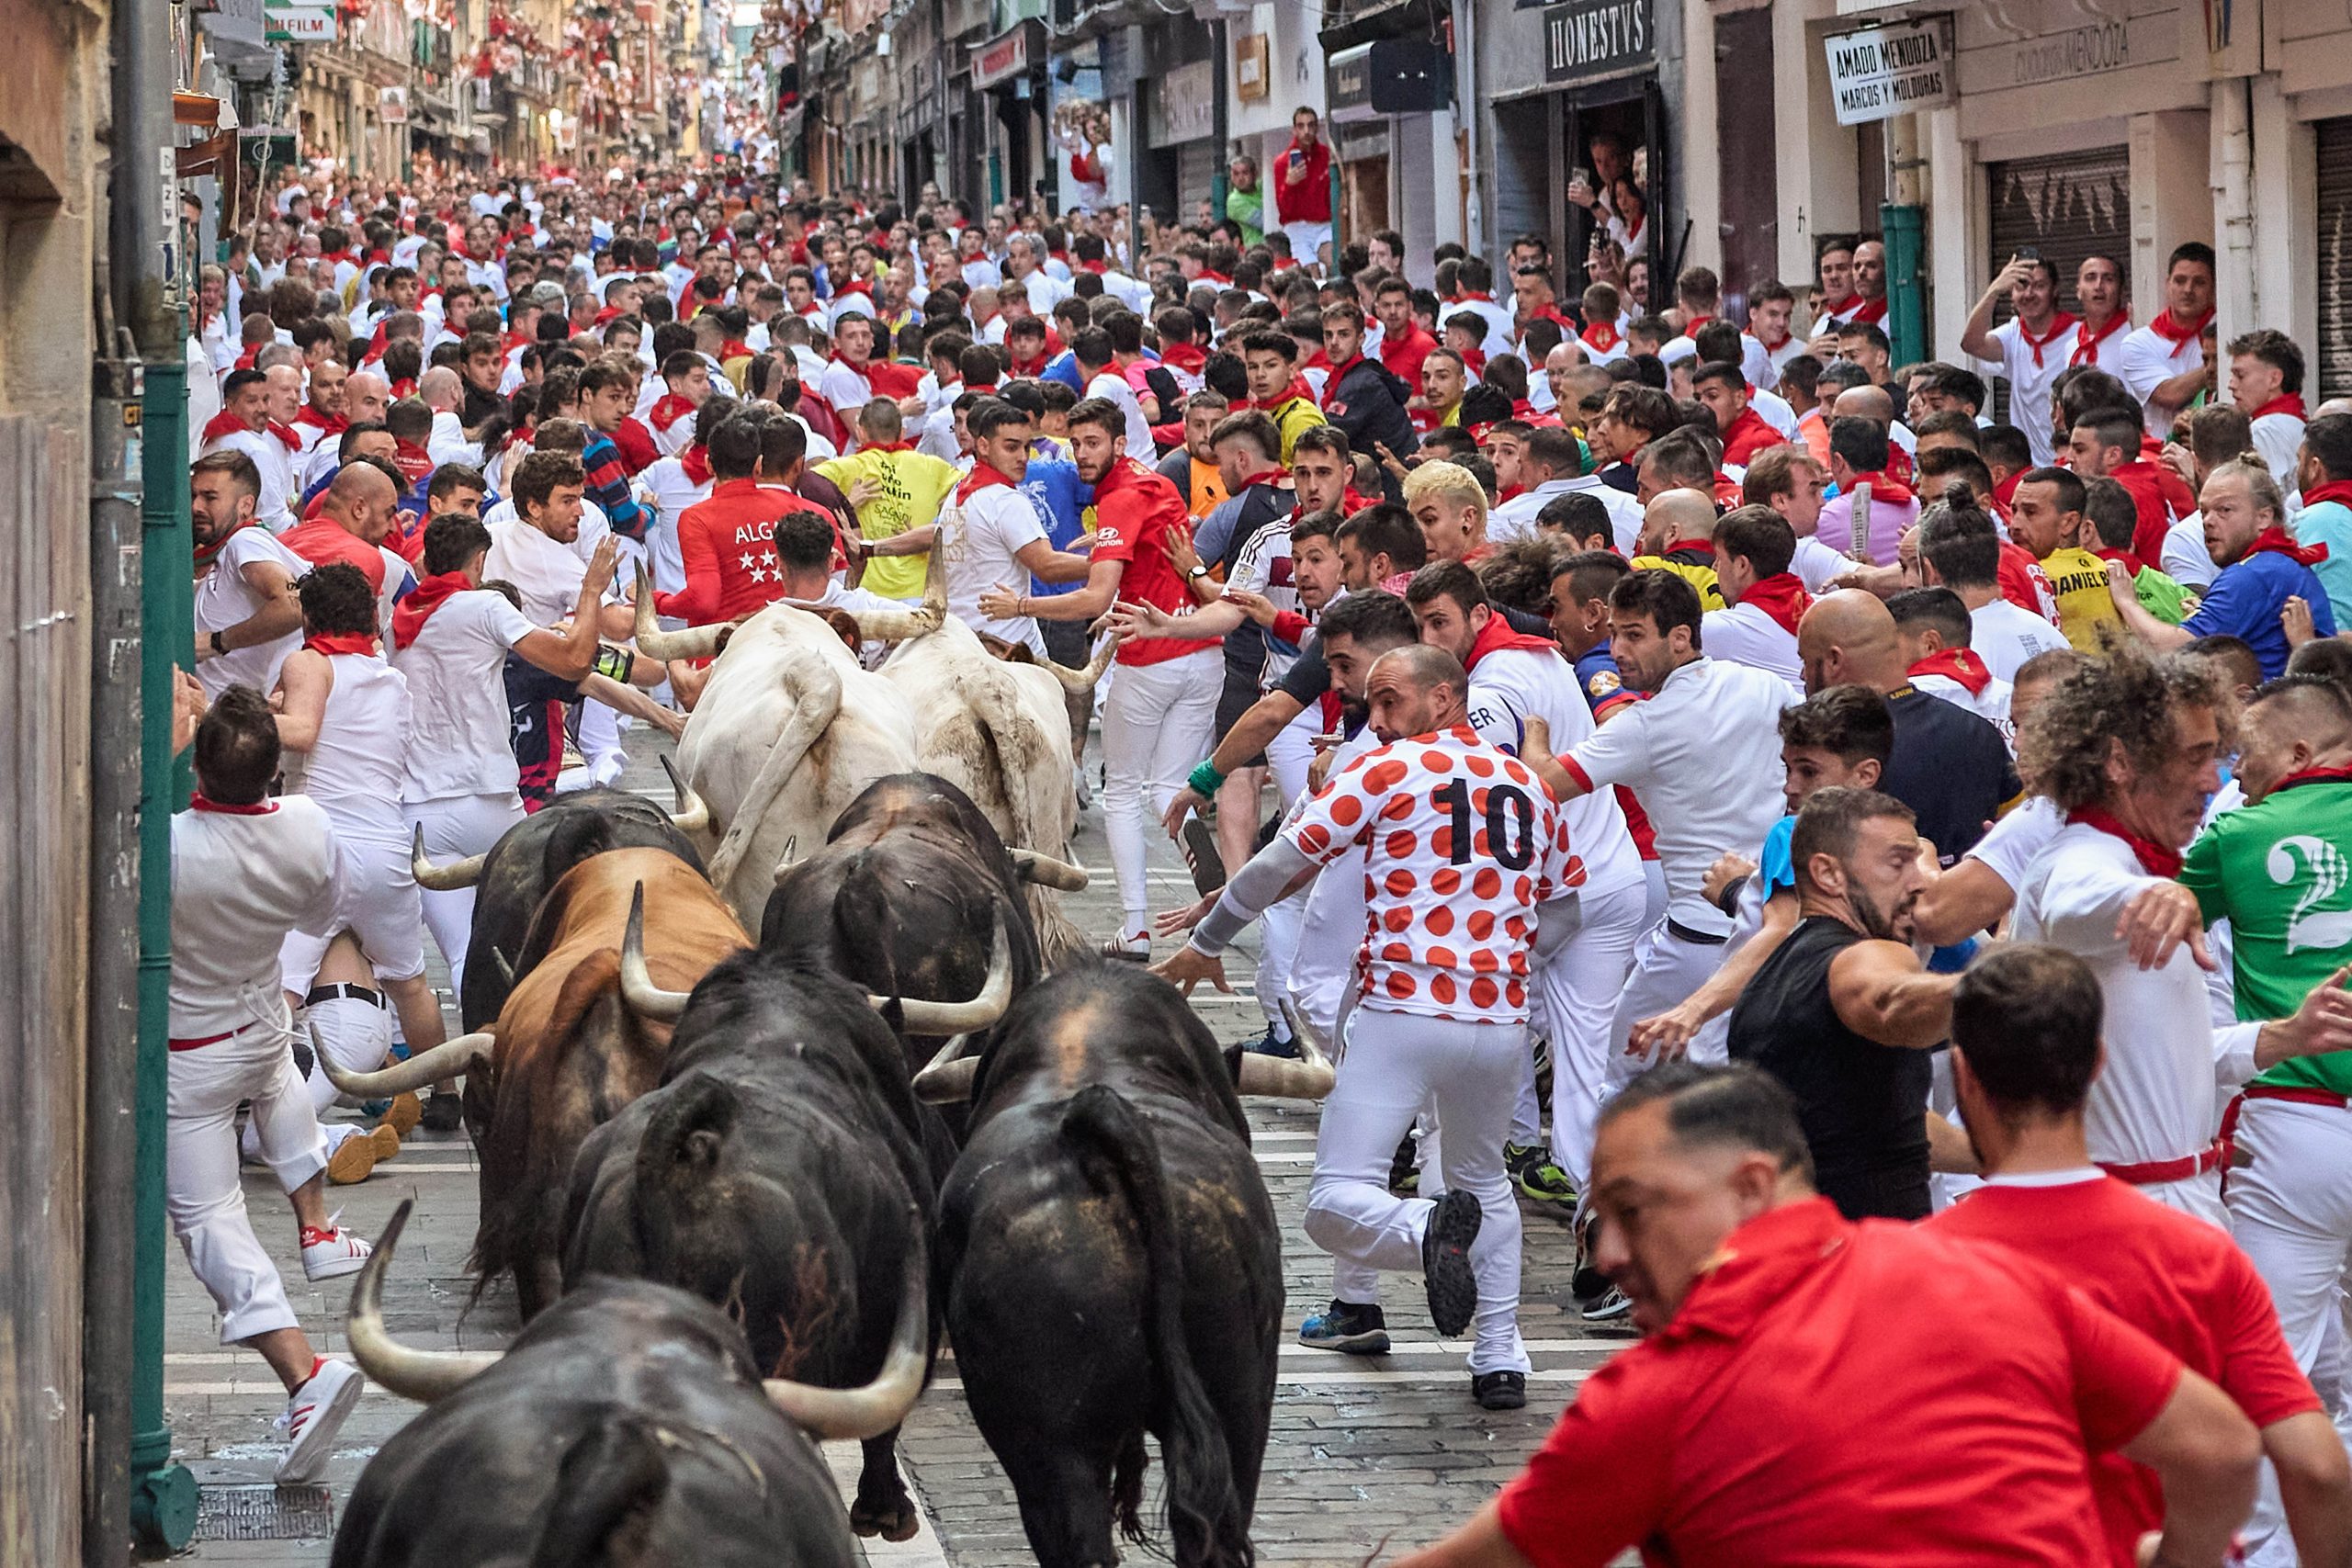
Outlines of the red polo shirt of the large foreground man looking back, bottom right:
{"label": "red polo shirt of the large foreground man looking back, bottom right", "polygon": [[1538,1568],[2074,1568],[2105,1549],[2084,1453],[2178,1382],[2049,1274],[1806,1199],[1585,1380],[1501,1523]]}

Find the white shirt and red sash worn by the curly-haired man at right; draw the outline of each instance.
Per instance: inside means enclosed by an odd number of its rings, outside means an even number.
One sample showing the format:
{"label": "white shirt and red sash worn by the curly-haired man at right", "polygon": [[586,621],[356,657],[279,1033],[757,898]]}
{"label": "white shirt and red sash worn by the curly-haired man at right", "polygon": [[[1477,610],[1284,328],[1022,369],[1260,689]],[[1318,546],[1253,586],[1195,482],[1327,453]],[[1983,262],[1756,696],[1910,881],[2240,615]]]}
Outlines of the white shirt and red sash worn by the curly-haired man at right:
{"label": "white shirt and red sash worn by the curly-haired man at right", "polygon": [[[2178,870],[2178,856],[2152,853]],[[2107,1001],[2107,1065],[2086,1117],[2091,1157],[2159,1204],[2227,1229],[2204,971],[2185,943],[2161,969],[2140,969],[2114,933],[2124,905],[2173,870],[2150,870],[2119,832],[2070,820],[2018,889],[2013,936],[2084,959]]]}

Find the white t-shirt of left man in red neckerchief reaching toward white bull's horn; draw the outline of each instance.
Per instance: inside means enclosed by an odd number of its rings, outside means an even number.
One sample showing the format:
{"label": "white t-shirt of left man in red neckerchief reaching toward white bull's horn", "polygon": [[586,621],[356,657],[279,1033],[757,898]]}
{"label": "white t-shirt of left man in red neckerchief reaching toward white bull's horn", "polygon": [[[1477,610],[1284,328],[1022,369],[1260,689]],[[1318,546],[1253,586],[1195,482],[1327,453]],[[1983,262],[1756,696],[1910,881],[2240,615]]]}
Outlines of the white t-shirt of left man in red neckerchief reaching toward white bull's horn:
{"label": "white t-shirt of left man in red neckerchief reaching toward white bull's horn", "polygon": [[393,668],[409,677],[405,804],[515,792],[522,771],[506,733],[506,654],[534,630],[496,590],[456,592],[393,654]]}

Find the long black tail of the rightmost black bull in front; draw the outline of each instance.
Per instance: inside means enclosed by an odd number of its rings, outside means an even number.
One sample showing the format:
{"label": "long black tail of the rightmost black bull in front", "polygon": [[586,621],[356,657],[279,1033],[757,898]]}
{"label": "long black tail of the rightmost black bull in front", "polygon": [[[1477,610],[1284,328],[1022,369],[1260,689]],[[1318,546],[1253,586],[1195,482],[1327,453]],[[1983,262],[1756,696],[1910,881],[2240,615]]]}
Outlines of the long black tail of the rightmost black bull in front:
{"label": "long black tail of the rightmost black bull in front", "polygon": [[1249,1521],[1232,1481],[1225,1429],[1209,1389],[1192,1366],[1183,1331],[1183,1251],[1160,1180],[1160,1140],[1108,1084],[1089,1084],[1061,1114],[1061,1135],[1089,1166],[1127,1194],[1143,1239],[1143,1338],[1152,1359],[1152,1403],[1160,1410],[1160,1453],[1167,1460],[1169,1535],[1178,1568],[1249,1568]]}

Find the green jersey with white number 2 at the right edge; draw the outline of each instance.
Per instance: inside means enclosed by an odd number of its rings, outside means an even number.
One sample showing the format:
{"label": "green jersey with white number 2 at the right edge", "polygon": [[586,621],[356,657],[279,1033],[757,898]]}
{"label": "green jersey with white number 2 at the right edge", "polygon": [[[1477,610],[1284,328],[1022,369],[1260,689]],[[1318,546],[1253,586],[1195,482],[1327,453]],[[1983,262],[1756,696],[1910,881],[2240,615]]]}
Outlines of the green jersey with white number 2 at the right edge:
{"label": "green jersey with white number 2 at the right edge", "polygon": [[[2241,1020],[2286,1018],[2352,959],[2352,778],[2310,778],[2223,811],[2180,884],[2206,924],[2227,917]],[[2352,1095],[2352,1051],[2298,1056],[2256,1084]]]}

